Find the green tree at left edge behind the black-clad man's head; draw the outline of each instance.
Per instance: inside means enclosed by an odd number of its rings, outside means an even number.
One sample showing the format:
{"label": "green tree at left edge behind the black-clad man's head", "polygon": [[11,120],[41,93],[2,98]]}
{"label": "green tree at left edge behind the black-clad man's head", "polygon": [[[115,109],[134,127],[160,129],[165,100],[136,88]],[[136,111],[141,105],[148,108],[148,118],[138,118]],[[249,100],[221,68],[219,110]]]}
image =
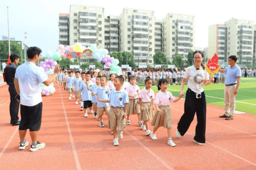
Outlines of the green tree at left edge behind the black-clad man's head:
{"label": "green tree at left edge behind the black-clad man's head", "polygon": [[[22,58],[21,45],[18,42],[11,41],[10,46],[11,46],[11,54],[13,53],[18,54],[20,56],[20,63],[21,63],[21,58]],[[0,41],[0,57],[2,61],[3,60],[8,61],[8,58],[9,58],[8,41]]]}

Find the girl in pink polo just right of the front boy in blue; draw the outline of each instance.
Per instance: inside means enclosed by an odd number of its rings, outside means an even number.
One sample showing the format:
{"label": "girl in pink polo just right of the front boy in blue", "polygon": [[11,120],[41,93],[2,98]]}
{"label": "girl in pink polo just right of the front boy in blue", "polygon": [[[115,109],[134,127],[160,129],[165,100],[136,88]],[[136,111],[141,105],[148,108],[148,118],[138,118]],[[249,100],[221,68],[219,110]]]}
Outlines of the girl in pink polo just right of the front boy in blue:
{"label": "girl in pink polo just right of the front boy in blue", "polygon": [[136,78],[135,76],[130,77],[130,84],[128,85],[126,92],[128,92],[129,96],[129,103],[127,108],[127,121],[126,124],[131,124],[130,122],[130,115],[137,115],[138,116],[138,125],[141,126],[142,122],[140,121],[140,105],[138,103],[138,94],[140,93],[140,87],[136,85]]}

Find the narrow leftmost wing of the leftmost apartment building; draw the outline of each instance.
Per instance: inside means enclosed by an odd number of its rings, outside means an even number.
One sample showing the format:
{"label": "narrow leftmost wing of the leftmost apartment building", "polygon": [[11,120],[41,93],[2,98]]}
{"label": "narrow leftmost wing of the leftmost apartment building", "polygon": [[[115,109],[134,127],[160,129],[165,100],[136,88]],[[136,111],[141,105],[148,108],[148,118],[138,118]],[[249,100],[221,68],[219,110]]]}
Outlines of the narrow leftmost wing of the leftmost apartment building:
{"label": "narrow leftmost wing of the leftmost apartment building", "polygon": [[59,44],[62,44],[64,46],[69,45],[68,21],[69,21],[68,13],[59,13]]}

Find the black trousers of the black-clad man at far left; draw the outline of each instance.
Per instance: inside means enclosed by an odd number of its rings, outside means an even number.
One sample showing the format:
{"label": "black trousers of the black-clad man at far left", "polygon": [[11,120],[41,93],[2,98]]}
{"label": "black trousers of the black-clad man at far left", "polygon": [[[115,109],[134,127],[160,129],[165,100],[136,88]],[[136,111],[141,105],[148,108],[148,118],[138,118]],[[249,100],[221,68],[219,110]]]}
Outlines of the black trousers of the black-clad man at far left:
{"label": "black trousers of the black-clad man at far left", "polygon": [[14,85],[9,85],[9,93],[10,93],[10,99],[11,99],[11,103],[10,103],[10,116],[11,116],[11,124],[16,124],[19,120],[18,117],[18,113],[19,113],[19,107],[20,107],[20,103],[16,100],[16,89]]}

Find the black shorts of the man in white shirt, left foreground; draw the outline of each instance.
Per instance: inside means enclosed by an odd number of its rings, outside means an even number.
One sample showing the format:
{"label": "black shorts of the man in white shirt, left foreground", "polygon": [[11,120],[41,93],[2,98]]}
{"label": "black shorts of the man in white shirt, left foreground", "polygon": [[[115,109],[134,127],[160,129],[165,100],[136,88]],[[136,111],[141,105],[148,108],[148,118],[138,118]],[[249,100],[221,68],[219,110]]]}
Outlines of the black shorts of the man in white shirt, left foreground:
{"label": "black shorts of the man in white shirt, left foreground", "polygon": [[34,106],[20,105],[19,130],[39,131],[42,121],[42,108],[42,102]]}

